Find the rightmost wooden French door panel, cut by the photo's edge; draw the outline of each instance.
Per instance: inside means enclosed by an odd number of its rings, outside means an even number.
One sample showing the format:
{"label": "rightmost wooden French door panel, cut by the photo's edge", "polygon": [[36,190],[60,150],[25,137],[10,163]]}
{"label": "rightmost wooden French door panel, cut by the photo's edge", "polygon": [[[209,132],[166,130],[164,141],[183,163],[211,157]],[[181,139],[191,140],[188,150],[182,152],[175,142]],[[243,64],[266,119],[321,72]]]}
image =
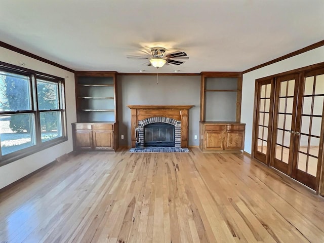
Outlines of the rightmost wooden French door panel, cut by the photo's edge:
{"label": "rightmost wooden French door panel, cut by the photo's edge", "polygon": [[324,69],[305,73],[299,90],[292,177],[317,191],[324,137]]}

